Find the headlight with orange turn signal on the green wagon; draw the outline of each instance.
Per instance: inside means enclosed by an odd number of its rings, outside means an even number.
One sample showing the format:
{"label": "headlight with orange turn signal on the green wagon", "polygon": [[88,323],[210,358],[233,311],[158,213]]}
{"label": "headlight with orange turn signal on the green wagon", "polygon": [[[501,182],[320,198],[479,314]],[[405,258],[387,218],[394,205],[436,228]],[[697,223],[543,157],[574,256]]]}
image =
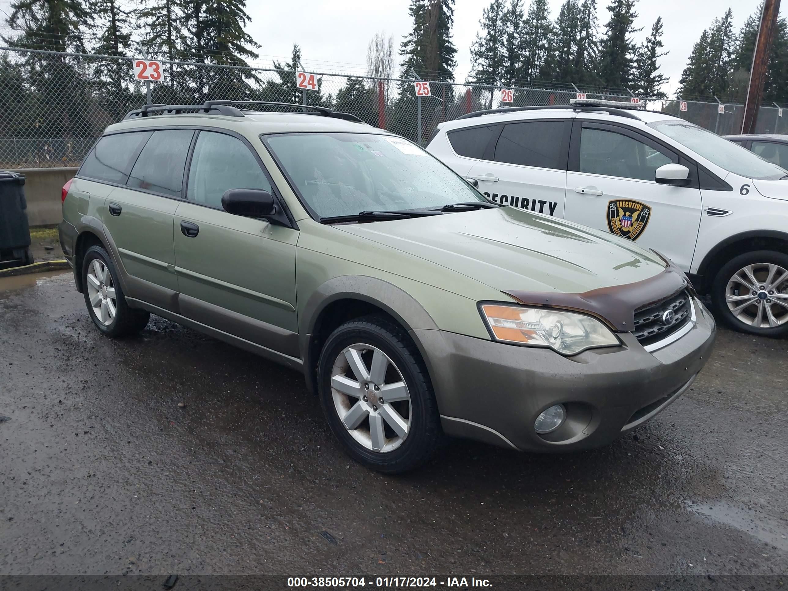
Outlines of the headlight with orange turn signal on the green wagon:
{"label": "headlight with orange turn signal on the green wagon", "polygon": [[621,344],[597,318],[565,310],[485,303],[481,315],[492,337],[504,343],[549,347],[563,355]]}

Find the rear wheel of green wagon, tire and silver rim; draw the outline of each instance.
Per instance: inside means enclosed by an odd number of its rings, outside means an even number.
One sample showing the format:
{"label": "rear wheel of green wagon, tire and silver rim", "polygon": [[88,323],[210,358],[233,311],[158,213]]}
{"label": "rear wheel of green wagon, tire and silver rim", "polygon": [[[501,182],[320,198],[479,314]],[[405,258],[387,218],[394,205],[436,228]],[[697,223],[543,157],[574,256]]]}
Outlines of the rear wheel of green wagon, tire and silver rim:
{"label": "rear wheel of green wagon, tire and silver rim", "polygon": [[115,263],[102,247],[87,249],[82,262],[82,284],[87,313],[104,335],[128,336],[147,326],[151,314],[128,307]]}

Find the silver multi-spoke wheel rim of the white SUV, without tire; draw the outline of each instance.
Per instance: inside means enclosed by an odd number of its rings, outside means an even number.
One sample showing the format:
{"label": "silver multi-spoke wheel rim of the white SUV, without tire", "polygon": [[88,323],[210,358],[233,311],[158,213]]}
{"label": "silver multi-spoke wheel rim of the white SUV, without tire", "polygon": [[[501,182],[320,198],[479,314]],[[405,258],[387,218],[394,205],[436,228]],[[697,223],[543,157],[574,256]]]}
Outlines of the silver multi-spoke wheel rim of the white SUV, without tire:
{"label": "silver multi-spoke wheel rim of the white SUV, without tire", "polygon": [[725,288],[730,313],[756,329],[773,329],[788,322],[788,269],[771,262],[745,266]]}

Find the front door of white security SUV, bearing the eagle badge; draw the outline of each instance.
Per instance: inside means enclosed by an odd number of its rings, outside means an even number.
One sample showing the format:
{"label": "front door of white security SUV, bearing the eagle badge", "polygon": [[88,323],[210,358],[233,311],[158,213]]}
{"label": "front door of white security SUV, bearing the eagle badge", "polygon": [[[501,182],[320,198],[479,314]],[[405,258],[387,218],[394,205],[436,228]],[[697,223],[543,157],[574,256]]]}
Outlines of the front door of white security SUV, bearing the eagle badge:
{"label": "front door of white security SUV, bearing the eagle badge", "polygon": [[[623,125],[575,120],[567,206],[571,221],[654,248],[689,272],[701,224],[697,165],[663,143]],[[657,184],[668,163],[689,168],[686,187]]]}

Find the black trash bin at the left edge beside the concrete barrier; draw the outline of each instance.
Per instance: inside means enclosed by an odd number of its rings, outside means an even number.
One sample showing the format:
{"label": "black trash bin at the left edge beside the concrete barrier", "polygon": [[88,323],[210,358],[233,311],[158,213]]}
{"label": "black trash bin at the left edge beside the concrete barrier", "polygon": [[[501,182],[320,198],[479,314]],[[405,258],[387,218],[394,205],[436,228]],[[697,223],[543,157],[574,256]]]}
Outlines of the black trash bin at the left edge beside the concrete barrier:
{"label": "black trash bin at the left edge beside the concrete barrier", "polygon": [[32,262],[24,176],[0,170],[0,269]]}

